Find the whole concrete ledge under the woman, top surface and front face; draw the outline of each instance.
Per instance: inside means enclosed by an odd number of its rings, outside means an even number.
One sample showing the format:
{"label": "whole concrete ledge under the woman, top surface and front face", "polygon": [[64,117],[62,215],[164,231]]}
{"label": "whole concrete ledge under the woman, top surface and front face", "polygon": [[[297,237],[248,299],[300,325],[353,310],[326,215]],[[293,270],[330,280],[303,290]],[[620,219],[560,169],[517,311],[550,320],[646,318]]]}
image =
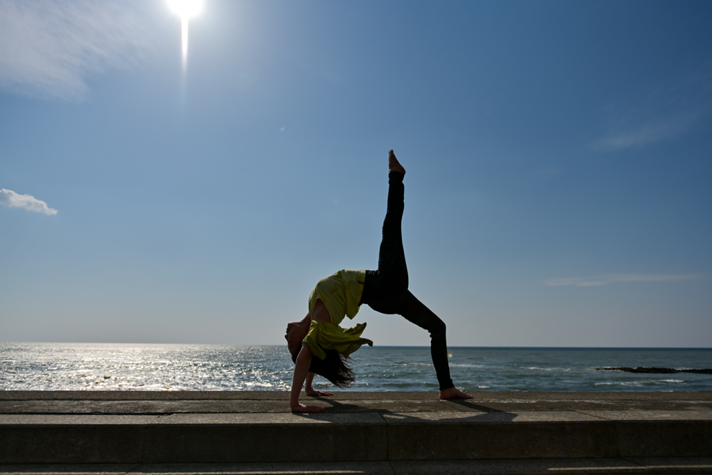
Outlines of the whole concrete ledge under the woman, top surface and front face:
{"label": "whole concrete ledge under the woman, top surface and front face", "polygon": [[4,392],[0,464],[712,457],[709,393],[575,394],[344,392],[293,414],[286,392]]}

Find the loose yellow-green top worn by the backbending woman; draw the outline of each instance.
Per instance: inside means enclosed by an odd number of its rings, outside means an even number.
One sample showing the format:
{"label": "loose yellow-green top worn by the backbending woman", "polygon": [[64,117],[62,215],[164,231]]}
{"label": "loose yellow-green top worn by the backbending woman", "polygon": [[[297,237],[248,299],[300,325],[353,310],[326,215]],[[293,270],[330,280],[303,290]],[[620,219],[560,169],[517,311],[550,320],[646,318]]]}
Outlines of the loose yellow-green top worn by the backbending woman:
{"label": "loose yellow-green top worn by the backbending woman", "polygon": [[331,318],[331,323],[312,320],[309,332],[302,340],[302,345],[307,345],[320,360],[326,357],[325,350],[337,350],[348,356],[361,345],[373,346],[371,340],[361,338],[365,323],[348,330],[339,326],[345,316],[352,319],[358,313],[365,279],[366,271],[342,269],[321,279],[309,296],[309,315],[314,312],[316,301],[320,300],[329,310]]}

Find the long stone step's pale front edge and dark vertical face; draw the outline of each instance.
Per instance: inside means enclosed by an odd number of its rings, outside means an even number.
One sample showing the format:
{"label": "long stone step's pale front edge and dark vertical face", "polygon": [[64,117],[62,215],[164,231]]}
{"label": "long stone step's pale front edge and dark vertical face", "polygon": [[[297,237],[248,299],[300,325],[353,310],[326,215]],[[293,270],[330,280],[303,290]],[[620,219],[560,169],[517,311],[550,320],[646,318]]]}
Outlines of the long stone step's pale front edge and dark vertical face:
{"label": "long stone step's pale front edge and dark vertical face", "polygon": [[[0,463],[712,456],[712,420],[666,413],[4,414]],[[604,418],[605,417],[605,418]],[[687,419],[684,419],[687,418]]]}

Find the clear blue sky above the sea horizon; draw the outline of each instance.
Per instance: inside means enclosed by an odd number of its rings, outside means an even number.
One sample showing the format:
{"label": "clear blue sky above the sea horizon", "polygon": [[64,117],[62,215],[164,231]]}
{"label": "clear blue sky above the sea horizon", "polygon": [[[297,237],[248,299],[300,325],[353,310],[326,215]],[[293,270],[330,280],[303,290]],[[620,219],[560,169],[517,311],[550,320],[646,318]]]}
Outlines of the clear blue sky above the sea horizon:
{"label": "clear blue sky above the sea horizon", "polygon": [[394,149],[449,345],[708,347],[711,15],[205,0],[183,73],[164,0],[3,0],[0,340],[281,344],[377,266]]}

